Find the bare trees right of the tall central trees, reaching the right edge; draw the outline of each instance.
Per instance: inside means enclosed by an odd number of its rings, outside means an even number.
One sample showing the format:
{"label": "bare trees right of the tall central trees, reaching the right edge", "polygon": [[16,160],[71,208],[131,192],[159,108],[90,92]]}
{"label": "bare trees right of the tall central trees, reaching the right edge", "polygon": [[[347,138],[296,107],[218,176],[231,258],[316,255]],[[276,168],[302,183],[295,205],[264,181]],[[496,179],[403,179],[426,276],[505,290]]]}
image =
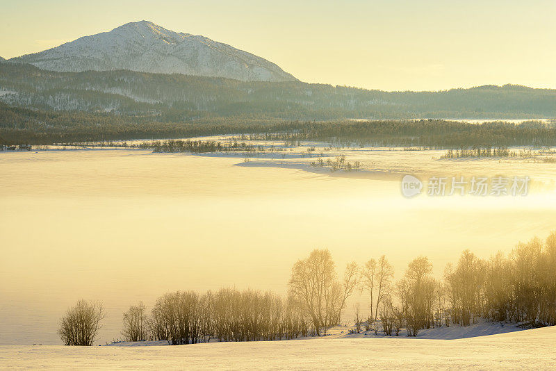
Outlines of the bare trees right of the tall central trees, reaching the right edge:
{"label": "bare trees right of the tall central trees, reaching the right edge", "polygon": [[416,336],[430,327],[468,326],[477,318],[524,327],[556,324],[556,232],[545,243],[534,238],[518,244],[507,257],[484,260],[466,250],[445,267],[443,279],[432,277],[423,256],[395,284],[384,256],[365,263],[359,275],[360,289],[370,294],[368,323],[376,328],[378,316],[387,336],[402,328]]}

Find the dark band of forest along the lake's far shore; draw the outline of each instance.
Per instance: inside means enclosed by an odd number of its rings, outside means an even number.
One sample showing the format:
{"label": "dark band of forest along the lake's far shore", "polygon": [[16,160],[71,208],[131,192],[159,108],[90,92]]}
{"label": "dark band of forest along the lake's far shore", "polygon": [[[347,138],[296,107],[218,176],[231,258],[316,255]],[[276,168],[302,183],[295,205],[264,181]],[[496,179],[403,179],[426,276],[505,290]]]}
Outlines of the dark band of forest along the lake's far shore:
{"label": "dark band of forest along the lake's far shore", "polygon": [[[0,145],[49,145],[111,140],[195,138],[238,134],[250,140],[303,140],[340,146],[504,149],[556,146],[556,125],[542,122],[469,124],[445,120],[300,122],[268,117],[213,117],[160,122],[160,117],[35,111],[0,104]],[[481,152],[482,153],[482,152]],[[501,152],[500,152],[501,153]]]}

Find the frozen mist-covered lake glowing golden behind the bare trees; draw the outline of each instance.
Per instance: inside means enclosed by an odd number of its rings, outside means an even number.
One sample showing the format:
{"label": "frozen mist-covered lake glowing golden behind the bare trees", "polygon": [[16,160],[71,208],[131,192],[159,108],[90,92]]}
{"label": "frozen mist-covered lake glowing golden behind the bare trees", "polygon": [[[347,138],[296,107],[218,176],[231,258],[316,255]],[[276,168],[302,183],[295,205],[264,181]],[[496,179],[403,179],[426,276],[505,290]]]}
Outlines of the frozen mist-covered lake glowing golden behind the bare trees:
{"label": "frozen mist-covered lake glowing golden behind the bare trees", "polygon": [[[58,320],[81,298],[104,303],[104,344],[120,337],[130,304],[151,306],[170,290],[284,293],[293,263],[317,247],[330,249],[340,271],[386,254],[400,277],[425,255],[440,275],[464,249],[488,258],[556,229],[553,163],[345,153],[370,171],[303,170],[311,158],[0,153],[0,345],[60,344]],[[526,197],[406,199],[406,173],[529,175],[542,186]]]}

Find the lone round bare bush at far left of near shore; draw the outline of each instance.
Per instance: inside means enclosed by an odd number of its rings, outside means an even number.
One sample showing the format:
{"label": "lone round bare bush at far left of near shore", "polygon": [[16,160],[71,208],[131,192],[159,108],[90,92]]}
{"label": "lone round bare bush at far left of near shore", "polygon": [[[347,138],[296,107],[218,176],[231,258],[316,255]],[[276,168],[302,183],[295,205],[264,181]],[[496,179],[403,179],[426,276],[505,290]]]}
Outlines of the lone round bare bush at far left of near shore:
{"label": "lone round bare bush at far left of near shore", "polygon": [[64,345],[90,346],[95,342],[103,318],[102,304],[81,299],[60,320],[58,334]]}

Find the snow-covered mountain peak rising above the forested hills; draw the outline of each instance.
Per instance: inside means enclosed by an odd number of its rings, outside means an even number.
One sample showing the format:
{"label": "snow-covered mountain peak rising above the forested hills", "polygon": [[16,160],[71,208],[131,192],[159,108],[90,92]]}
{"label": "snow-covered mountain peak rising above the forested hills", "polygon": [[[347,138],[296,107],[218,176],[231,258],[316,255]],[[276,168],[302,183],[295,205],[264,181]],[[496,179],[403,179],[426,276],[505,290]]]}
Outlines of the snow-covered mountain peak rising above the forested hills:
{"label": "snow-covered mountain peak rising above the forested hills", "polygon": [[274,63],[247,51],[204,36],[169,31],[148,21],[124,24],[10,61],[58,72],[129,69],[241,81],[296,80]]}

